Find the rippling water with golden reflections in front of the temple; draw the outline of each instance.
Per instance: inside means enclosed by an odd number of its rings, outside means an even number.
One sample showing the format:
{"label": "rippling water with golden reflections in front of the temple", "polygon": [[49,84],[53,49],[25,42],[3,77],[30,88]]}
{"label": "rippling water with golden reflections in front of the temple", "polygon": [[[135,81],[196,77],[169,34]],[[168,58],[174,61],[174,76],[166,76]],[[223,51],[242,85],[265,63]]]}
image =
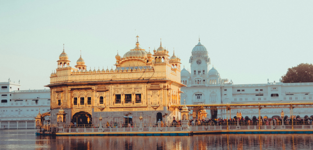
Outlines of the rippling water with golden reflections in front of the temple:
{"label": "rippling water with golden reflections in front of the temple", "polygon": [[313,150],[313,134],[52,137],[35,132],[0,130],[0,150]]}

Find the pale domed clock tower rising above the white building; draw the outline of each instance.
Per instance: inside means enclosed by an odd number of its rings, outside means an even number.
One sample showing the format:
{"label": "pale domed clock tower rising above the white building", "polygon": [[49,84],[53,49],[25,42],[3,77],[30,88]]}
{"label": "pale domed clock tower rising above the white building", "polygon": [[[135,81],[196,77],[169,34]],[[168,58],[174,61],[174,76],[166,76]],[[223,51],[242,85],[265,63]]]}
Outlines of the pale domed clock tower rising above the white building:
{"label": "pale domed clock tower rising above the white building", "polygon": [[208,84],[208,68],[211,60],[207,49],[199,43],[192,49],[189,58],[191,68],[191,86],[206,86]]}

